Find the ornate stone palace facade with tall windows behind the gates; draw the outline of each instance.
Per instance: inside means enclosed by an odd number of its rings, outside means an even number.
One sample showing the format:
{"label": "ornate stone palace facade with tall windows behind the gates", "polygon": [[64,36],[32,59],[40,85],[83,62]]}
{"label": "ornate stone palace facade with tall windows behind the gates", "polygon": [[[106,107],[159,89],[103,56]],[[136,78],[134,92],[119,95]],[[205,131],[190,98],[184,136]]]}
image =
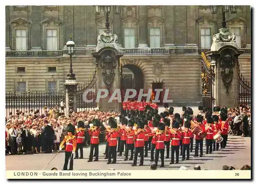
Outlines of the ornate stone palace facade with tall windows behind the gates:
{"label": "ornate stone palace facade with tall windows behind the gates", "polygon": [[[221,15],[209,6],[121,6],[120,14],[111,9],[109,19],[124,53],[123,76],[133,81],[127,85],[168,88],[173,105],[202,102],[201,52],[210,50]],[[244,51],[241,73],[250,81],[250,6],[226,13],[226,20]],[[95,70],[92,52],[104,27],[103,10],[95,15],[93,6],[6,6],[6,90],[63,90],[70,35],[73,70],[84,83]]]}

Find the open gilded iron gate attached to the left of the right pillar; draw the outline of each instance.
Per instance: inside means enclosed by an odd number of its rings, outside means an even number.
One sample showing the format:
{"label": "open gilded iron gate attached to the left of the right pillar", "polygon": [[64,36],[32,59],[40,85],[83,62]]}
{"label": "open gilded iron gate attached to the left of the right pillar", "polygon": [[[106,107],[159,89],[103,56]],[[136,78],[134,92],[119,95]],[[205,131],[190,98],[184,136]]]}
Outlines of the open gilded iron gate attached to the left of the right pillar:
{"label": "open gilded iron gate attached to the left of the right pillar", "polygon": [[206,55],[203,52],[201,53],[201,80],[203,106],[212,108],[215,103],[215,74],[214,68],[211,67],[210,62],[207,60]]}

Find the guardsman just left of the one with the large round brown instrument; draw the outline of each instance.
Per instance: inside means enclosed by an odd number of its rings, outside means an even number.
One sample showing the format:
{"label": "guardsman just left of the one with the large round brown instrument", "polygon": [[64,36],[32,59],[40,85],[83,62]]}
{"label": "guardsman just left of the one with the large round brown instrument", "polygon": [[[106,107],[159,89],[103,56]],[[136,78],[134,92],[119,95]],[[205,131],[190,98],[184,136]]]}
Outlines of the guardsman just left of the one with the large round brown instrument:
{"label": "guardsman just left of the one with the large round brown instrument", "polygon": [[182,160],[185,159],[185,152],[187,152],[187,158],[186,160],[189,160],[189,145],[190,145],[190,132],[189,132],[189,128],[190,128],[190,122],[189,121],[185,121],[184,122],[184,131],[183,133],[183,140],[182,140]]}

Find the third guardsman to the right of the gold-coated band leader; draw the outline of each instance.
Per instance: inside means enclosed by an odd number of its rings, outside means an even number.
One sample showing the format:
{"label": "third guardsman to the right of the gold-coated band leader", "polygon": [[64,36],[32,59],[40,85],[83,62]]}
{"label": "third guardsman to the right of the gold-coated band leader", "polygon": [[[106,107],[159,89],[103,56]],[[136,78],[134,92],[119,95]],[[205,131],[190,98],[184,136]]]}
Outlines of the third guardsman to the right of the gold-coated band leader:
{"label": "third guardsman to the right of the gold-coated band leader", "polygon": [[[109,118],[110,132],[109,132],[109,159],[106,164],[116,164],[116,147],[117,147],[117,137],[119,131],[117,131],[117,122],[114,118]],[[111,162],[111,157],[113,157],[113,162]]]}

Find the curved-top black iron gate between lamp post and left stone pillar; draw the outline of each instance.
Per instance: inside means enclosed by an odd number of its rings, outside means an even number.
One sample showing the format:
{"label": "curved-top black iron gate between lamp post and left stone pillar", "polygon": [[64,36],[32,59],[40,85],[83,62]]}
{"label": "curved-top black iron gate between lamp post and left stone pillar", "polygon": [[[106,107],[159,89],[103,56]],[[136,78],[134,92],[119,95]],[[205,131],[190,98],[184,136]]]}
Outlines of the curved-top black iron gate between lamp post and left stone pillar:
{"label": "curved-top black iron gate between lamp post and left stone pillar", "polygon": [[[87,91],[88,89],[91,89],[91,91]],[[93,92],[95,90],[95,93]],[[87,91],[87,94],[84,92]],[[83,110],[90,110],[95,109],[97,107],[96,103],[96,95],[97,95],[97,68],[95,68],[94,73],[90,77],[90,79],[84,83],[79,84],[77,86],[77,104],[76,107],[78,108],[77,111],[83,111]],[[90,102],[84,101],[84,95],[86,95],[86,98]],[[83,97],[84,96],[84,97]]]}

